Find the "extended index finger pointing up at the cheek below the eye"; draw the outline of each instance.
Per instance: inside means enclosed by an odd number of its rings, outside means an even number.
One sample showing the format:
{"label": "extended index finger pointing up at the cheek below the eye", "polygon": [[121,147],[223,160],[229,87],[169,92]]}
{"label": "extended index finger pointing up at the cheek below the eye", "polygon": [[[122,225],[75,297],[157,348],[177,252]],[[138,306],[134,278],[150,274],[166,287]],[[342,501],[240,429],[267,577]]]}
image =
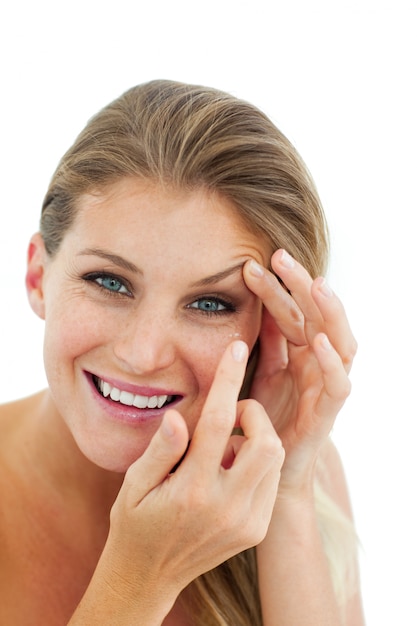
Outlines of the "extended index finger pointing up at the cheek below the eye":
{"label": "extended index finger pointing up at the cheek below the eye", "polygon": [[234,341],[223,354],[197,423],[187,458],[197,454],[199,469],[221,466],[227,442],[236,422],[239,392],[248,360],[248,346]]}

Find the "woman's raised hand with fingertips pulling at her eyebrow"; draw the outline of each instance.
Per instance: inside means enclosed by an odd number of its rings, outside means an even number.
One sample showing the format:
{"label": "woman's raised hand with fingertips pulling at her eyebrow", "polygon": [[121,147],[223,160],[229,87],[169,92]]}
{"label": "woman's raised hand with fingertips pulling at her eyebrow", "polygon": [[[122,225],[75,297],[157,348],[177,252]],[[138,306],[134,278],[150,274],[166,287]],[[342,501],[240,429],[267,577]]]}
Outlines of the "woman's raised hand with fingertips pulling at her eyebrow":
{"label": "woman's raised hand with fingertips pulling at her eyebrow", "polygon": [[283,285],[254,261],[244,268],[246,284],[264,304],[251,397],[264,406],[285,449],[280,494],[298,493],[311,487],[320,447],[349,395],[356,341],[323,278],[312,280],[284,250],[274,253],[271,266]]}

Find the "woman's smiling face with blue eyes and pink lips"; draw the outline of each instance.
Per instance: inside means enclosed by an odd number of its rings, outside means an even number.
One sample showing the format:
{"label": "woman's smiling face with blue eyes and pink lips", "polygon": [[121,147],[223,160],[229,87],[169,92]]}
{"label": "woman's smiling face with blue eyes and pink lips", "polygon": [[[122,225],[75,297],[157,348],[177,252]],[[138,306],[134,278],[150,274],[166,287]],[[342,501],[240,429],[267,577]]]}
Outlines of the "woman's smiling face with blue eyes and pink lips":
{"label": "woman's smiling face with blue eyes and pink lips", "polygon": [[191,437],[226,346],[258,336],[242,266],[267,264],[265,243],[214,193],[123,179],[83,196],[57,255],[41,256],[46,373],[83,453],[125,471],[166,406]]}

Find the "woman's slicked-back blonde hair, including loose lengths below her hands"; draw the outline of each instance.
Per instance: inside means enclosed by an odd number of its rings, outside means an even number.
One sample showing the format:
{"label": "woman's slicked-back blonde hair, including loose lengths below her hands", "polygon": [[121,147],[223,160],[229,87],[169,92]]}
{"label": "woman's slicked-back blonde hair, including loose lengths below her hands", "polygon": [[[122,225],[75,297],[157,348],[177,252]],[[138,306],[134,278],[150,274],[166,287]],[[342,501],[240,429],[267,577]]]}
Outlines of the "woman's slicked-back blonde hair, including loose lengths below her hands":
{"label": "woman's slicked-back blonde hair, including loose lengths below her hands", "polygon": [[[293,145],[251,104],[161,80],[109,104],[88,122],[51,180],[41,216],[48,253],[59,249],[81,195],[132,176],[221,194],[271,249],[284,247],[313,277],[325,273],[327,227],[311,176]],[[351,527],[324,492],[317,502],[342,598]],[[198,578],[183,597],[196,626],[261,626],[254,549]]]}

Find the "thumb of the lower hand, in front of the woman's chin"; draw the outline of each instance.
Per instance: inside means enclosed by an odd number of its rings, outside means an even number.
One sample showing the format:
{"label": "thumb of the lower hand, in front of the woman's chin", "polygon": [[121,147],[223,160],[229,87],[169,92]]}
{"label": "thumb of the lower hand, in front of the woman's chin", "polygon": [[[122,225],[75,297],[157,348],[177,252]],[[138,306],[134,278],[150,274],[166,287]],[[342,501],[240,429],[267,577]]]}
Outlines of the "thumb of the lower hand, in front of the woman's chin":
{"label": "thumb of the lower hand, in front of the woman's chin", "polygon": [[128,505],[136,507],[167,478],[187,445],[188,429],[183,417],[174,409],[166,411],[149,446],[126,472],[122,490],[128,492]]}

